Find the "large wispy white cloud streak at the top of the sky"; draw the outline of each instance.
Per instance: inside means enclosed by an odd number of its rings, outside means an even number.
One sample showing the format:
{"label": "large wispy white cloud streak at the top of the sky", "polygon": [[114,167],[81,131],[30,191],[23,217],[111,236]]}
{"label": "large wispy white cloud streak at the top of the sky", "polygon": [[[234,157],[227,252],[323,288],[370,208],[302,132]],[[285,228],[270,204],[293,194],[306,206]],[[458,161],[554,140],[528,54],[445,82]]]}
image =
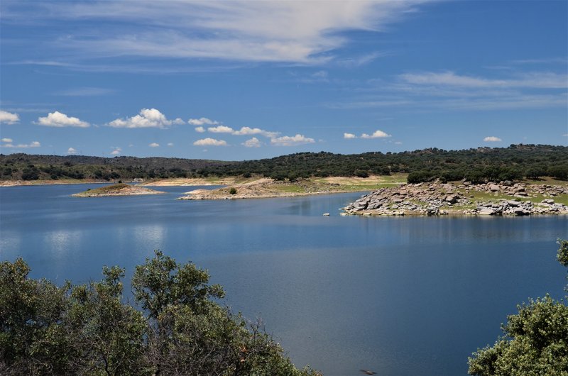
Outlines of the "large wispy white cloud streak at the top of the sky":
{"label": "large wispy white cloud streak at the top of the sky", "polygon": [[[129,2],[115,0],[73,6],[54,2],[40,9],[46,17],[65,21],[107,21],[99,38],[71,36],[57,44],[87,57],[316,64],[332,60],[329,52],[349,42],[340,33],[382,31],[424,1],[139,1],[132,9]],[[125,33],[120,28],[125,23],[145,27]],[[81,29],[76,34],[84,35]]]}

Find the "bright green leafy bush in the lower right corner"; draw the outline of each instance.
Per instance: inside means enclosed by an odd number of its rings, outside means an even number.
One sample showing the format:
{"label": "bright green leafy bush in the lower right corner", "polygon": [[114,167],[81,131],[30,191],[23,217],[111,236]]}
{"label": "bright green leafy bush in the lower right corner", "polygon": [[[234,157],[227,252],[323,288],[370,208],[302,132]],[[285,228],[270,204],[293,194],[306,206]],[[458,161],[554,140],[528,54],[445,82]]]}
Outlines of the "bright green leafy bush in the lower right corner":
{"label": "bright green leafy bush in the lower right corner", "polygon": [[[568,240],[559,240],[557,260],[568,267]],[[568,292],[568,284],[564,289]],[[469,358],[469,374],[568,375],[568,306],[548,295],[518,306],[504,336]]]}

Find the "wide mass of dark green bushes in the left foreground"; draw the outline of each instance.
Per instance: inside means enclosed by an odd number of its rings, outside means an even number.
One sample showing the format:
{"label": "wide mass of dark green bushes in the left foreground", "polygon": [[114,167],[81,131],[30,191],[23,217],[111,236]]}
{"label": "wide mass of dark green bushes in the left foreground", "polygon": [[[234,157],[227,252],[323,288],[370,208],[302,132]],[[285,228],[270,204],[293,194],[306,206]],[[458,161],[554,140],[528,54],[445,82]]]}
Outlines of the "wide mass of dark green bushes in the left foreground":
{"label": "wide mass of dark green bushes in the left foreground", "polygon": [[156,251],[136,267],[124,303],[120,267],[100,282],[55,286],[0,263],[1,375],[318,375],[216,301],[222,287]]}

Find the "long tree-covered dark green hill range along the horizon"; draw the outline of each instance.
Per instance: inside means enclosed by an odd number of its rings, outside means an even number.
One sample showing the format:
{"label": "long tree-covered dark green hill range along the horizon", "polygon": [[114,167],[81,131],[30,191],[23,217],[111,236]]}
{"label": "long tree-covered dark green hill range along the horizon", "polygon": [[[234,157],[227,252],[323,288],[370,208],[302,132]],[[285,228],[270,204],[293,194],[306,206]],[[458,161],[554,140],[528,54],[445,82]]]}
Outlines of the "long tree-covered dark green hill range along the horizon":
{"label": "long tree-covered dark green hill range along the horizon", "polygon": [[226,162],[165,157],[88,157],[82,155],[0,155],[0,179],[131,180],[173,177],[262,175],[298,177],[390,175],[408,173],[409,182],[431,179],[484,180],[568,178],[568,147],[510,145],[508,148],[342,155],[295,153],[263,160]]}

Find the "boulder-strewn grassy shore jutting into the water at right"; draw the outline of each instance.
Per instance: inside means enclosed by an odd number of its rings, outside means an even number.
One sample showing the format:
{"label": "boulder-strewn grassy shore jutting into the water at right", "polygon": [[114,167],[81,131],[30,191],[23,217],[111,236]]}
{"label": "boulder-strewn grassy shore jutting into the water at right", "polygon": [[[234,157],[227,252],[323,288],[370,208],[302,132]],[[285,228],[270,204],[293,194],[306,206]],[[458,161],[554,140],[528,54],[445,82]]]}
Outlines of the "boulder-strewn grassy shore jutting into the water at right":
{"label": "boulder-strewn grassy shore jutting into the water at right", "polygon": [[568,214],[564,185],[489,182],[486,184],[403,184],[381,188],[343,208],[342,215],[364,216],[528,216]]}

